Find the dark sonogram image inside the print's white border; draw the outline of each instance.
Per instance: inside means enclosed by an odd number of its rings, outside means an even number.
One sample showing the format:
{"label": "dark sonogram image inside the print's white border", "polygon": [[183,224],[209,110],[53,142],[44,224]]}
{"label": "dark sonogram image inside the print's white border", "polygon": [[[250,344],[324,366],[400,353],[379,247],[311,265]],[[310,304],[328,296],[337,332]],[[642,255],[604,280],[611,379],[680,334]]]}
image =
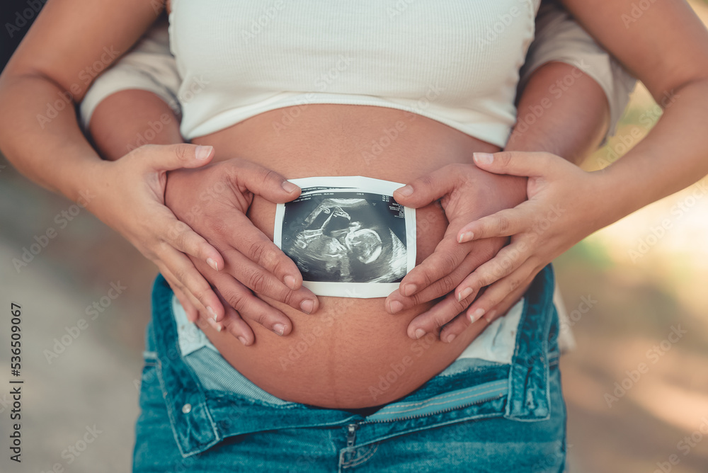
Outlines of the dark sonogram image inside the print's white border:
{"label": "dark sonogram image inside the print's white border", "polygon": [[285,204],[281,242],[304,280],[397,283],[406,275],[402,205],[376,193],[304,191]]}

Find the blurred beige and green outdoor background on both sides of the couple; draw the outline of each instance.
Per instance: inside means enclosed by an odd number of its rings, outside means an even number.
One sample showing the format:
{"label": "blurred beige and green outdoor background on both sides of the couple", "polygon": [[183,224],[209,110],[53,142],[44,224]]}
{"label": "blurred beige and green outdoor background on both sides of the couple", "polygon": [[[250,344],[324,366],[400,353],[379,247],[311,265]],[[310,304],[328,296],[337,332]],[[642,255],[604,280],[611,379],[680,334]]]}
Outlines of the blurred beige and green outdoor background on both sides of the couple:
{"label": "blurred beige and green outdoor background on both sides of the couple", "polygon": [[[706,2],[691,4],[708,23]],[[659,115],[638,86],[617,135],[586,168],[617,159]],[[43,238],[50,228],[56,235]],[[707,242],[703,179],[556,261],[577,341],[561,361],[572,472],[708,472]],[[38,254],[16,266],[13,258],[33,244]],[[33,185],[2,156],[0,261],[0,346],[9,346],[10,304],[20,304],[25,380],[23,462],[11,465],[3,445],[0,470],[128,472],[156,269],[89,212]],[[113,299],[112,285],[124,287]],[[4,439],[8,365],[1,348]]]}

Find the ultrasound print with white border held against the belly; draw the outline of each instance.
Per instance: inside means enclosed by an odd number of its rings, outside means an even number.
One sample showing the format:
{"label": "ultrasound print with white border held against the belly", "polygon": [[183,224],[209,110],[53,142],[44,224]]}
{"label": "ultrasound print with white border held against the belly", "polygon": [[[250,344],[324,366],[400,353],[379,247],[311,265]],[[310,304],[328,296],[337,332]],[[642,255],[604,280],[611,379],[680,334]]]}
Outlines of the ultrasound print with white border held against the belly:
{"label": "ultrasound print with white border held against the belly", "polygon": [[[415,266],[415,210],[399,183],[362,177],[293,179],[302,195],[278,205],[275,244],[316,295],[385,297]],[[323,183],[329,183],[324,186]]]}

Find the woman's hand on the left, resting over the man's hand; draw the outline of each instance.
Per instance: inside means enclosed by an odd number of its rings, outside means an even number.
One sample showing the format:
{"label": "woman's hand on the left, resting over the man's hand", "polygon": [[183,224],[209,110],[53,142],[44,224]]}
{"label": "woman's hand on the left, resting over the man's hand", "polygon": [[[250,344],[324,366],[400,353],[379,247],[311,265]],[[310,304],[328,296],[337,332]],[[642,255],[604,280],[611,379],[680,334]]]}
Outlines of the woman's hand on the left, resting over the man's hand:
{"label": "woman's hand on the left, resting over the man's hand", "polygon": [[224,307],[185,255],[215,270],[224,260],[165,206],[167,171],[204,166],[213,156],[212,147],[194,144],[145,145],[117,161],[98,161],[91,176],[98,193],[91,211],[156,264],[190,321],[198,308],[213,319],[224,316]]}

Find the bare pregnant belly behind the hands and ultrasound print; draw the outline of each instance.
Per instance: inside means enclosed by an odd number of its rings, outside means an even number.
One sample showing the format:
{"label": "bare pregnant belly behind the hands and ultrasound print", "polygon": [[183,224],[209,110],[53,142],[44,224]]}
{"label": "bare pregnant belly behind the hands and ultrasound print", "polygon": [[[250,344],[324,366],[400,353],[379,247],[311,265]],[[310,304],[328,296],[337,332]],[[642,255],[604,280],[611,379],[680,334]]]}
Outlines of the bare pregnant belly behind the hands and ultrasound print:
{"label": "bare pregnant belly behind the hands and ultrasound print", "polygon": [[[286,178],[367,176],[399,183],[445,164],[469,163],[472,152],[497,150],[421,115],[345,105],[272,110],[193,142],[214,146],[217,160],[242,157]],[[273,238],[275,205],[256,197],[249,217]],[[447,220],[437,204],[418,209],[416,220],[421,263],[442,239]],[[450,365],[486,326],[477,321],[453,343],[432,334],[411,340],[406,327],[430,304],[390,315],[383,298],[319,297],[319,310],[307,315],[264,300],[290,317],[290,336],[252,322],[256,343],[248,347],[225,332],[205,333],[236,370],[270,394],[336,409],[409,394]]]}

